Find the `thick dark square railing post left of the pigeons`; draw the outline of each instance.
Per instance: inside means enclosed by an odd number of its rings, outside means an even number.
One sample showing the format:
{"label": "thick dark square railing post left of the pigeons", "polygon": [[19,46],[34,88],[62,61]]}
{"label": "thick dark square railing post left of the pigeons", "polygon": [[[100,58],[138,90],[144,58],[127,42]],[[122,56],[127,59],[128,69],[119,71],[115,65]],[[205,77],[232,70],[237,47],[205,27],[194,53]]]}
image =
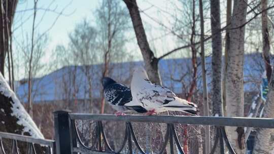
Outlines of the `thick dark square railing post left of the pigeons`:
{"label": "thick dark square railing post left of the pigeons", "polygon": [[72,154],[69,110],[54,111],[54,131],[57,154]]}

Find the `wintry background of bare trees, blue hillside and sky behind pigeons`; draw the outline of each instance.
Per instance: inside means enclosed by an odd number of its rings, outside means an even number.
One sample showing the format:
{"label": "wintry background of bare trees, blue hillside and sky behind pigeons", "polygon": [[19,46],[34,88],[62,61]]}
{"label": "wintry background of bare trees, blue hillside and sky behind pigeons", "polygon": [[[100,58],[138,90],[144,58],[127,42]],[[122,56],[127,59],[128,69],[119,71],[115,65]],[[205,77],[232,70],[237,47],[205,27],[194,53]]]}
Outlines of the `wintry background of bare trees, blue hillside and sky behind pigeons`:
{"label": "wintry background of bare trees, blue hillside and sky behind pigeons", "polygon": [[[45,138],[54,138],[54,110],[114,113],[101,78],[130,85],[140,65],[153,83],[196,103],[200,115],[274,118],[273,85],[265,94],[272,81],[272,0],[2,0],[1,6],[1,72]],[[92,124],[80,124],[89,144]],[[114,126],[124,127],[108,124]],[[160,126],[134,127],[147,151],[159,149]],[[214,127],[177,129],[187,153],[205,153],[207,138],[214,138]],[[273,150],[267,140],[273,130],[227,131],[237,153],[253,150],[265,132],[253,153]],[[114,132],[107,135],[117,147],[122,137]]]}

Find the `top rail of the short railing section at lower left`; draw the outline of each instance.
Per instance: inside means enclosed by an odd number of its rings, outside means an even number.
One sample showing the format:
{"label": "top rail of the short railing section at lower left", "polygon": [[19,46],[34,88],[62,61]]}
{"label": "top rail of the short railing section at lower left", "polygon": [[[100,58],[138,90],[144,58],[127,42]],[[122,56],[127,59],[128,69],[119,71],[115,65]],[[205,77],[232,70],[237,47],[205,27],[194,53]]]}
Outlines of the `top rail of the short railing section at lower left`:
{"label": "top rail of the short railing section at lower left", "polygon": [[54,142],[55,142],[54,140],[38,139],[38,138],[30,137],[30,136],[24,136],[24,135],[12,134],[12,133],[6,133],[6,132],[0,132],[0,137],[13,139],[13,140],[17,140],[17,141],[42,144],[42,145],[47,145],[47,146],[51,146],[51,147],[54,146]]}

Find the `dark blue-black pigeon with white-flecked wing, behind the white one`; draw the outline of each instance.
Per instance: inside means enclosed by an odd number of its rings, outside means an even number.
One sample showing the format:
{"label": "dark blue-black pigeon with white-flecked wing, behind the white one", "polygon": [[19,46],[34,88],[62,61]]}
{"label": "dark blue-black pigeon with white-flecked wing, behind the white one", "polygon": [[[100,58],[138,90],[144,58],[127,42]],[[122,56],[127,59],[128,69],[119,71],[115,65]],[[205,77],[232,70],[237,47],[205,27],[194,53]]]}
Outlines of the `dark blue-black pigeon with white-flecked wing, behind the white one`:
{"label": "dark blue-black pigeon with white-flecked wing, behind the white one", "polygon": [[[104,87],[104,96],[107,102],[117,110],[116,115],[124,115],[126,111],[136,111],[145,113],[147,110],[138,103],[132,103],[131,91],[127,86],[117,83],[109,77],[102,78],[102,86]],[[131,102],[132,105],[127,106]]]}

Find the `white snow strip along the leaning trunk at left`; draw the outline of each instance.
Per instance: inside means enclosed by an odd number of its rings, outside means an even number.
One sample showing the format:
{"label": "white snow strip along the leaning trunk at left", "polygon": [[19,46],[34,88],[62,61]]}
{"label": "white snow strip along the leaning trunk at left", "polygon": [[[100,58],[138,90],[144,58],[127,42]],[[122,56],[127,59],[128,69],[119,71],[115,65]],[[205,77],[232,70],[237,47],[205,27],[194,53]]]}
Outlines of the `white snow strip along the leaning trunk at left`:
{"label": "white snow strip along the leaning trunk at left", "polygon": [[43,134],[36,126],[35,122],[30,118],[29,114],[24,109],[23,105],[20,103],[19,99],[16,97],[15,93],[10,89],[4,76],[0,73],[0,93],[6,97],[12,99],[10,103],[12,104],[11,115],[18,119],[17,124],[24,127],[23,133],[27,132],[31,137],[44,139]]}

